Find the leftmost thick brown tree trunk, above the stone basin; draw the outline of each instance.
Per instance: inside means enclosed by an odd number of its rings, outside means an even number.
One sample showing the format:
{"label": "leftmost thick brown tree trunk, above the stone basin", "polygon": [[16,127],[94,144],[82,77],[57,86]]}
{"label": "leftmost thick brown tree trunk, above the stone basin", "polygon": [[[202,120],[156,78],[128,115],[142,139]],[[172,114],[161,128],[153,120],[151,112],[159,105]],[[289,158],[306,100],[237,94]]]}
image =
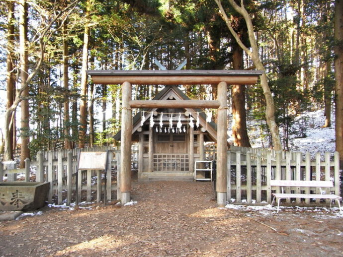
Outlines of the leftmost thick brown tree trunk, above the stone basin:
{"label": "leftmost thick brown tree trunk, above the stone basin", "polygon": [[[14,100],[15,94],[15,79],[13,73],[13,62],[14,62],[14,2],[8,1],[8,18],[7,18],[7,73],[6,73],[6,90],[7,90],[7,102],[6,102],[6,109],[9,109]],[[15,115],[15,114],[14,114]],[[5,128],[4,133],[6,134],[5,137],[7,138],[4,140],[4,153],[3,159],[4,160],[11,160],[13,159],[13,146],[15,144],[14,140],[14,126],[10,126],[11,117],[6,117],[5,120]]]}

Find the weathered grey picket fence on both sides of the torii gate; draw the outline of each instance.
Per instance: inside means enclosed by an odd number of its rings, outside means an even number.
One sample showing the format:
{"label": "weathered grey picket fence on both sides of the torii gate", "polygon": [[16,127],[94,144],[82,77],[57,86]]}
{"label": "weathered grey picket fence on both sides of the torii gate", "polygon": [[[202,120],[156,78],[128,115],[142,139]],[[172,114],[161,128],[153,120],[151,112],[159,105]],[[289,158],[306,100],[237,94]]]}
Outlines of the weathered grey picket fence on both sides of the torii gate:
{"label": "weathered grey picket fence on both sides of the torii gate", "polygon": [[[106,189],[104,188],[103,172],[78,171],[79,180],[76,185],[77,156],[80,149],[38,152],[34,161],[26,160],[24,169],[16,169],[10,172],[3,170],[0,162],[0,182],[4,173],[8,173],[7,181],[15,181],[16,176],[24,174],[24,181],[30,181],[31,169],[36,169],[36,178],[31,181],[50,182],[48,202],[70,204],[75,200],[76,189],[81,199],[86,201],[102,199],[106,190],[107,201],[111,201],[114,195],[118,198],[117,171],[120,170],[120,151],[117,148],[102,146],[83,148],[82,151],[110,151],[108,169],[106,171]],[[206,157],[215,160],[215,148],[207,150]],[[132,169],[138,169],[138,147],[132,147]],[[323,158],[322,158],[323,157]],[[270,186],[270,180],[326,180],[334,182],[334,190],[331,193],[340,194],[340,161],[339,153],[335,152],[331,158],[330,153],[321,156],[315,155],[311,160],[310,154],[301,152],[276,152],[270,149],[234,147],[228,151],[228,177],[227,198],[235,198],[236,203],[257,204],[271,202],[271,193],[279,191],[279,188]],[[321,160],[322,158],[322,160]],[[341,175],[342,176],[342,175]],[[342,185],[341,185],[342,186]],[[286,189],[289,190],[289,189]],[[310,189],[319,193],[318,188]],[[329,190],[329,189],[325,189]],[[330,191],[330,190],[329,190]],[[327,192],[329,193],[329,192]],[[296,199],[300,203],[301,199]],[[289,200],[287,200],[289,202]],[[306,199],[305,203],[309,203]],[[316,200],[319,202],[319,199]]]}

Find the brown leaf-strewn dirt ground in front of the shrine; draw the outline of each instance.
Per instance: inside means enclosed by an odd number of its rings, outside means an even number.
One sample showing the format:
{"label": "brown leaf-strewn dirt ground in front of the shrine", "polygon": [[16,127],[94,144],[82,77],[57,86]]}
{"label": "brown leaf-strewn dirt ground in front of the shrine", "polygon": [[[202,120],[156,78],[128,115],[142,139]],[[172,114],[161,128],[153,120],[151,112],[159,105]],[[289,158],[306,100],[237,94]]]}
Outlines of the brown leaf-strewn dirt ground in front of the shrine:
{"label": "brown leaf-strewn dirt ground in front of the shrine", "polygon": [[220,209],[209,182],[135,183],[132,198],[1,222],[0,257],[343,256],[343,217],[331,212]]}

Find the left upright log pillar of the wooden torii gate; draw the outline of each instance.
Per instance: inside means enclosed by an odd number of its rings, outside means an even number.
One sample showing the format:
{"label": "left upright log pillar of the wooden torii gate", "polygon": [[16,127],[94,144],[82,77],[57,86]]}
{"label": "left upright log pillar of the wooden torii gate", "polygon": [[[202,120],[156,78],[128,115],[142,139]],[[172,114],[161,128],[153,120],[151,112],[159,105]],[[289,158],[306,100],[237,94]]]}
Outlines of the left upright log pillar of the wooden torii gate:
{"label": "left upright log pillar of the wooden torii gate", "polygon": [[122,84],[121,144],[120,144],[120,192],[121,204],[131,200],[131,134],[132,134],[132,88],[129,82]]}

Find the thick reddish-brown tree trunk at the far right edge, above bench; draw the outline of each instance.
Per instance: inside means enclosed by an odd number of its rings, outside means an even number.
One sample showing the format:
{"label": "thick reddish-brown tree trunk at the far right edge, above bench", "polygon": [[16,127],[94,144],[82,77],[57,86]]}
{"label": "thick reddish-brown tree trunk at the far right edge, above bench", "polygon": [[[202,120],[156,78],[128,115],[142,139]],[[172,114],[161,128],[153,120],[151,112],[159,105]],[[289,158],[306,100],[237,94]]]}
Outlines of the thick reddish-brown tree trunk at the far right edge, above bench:
{"label": "thick reddish-brown tree trunk at the far right edge, above bench", "polygon": [[336,151],[343,160],[343,0],[335,1]]}

